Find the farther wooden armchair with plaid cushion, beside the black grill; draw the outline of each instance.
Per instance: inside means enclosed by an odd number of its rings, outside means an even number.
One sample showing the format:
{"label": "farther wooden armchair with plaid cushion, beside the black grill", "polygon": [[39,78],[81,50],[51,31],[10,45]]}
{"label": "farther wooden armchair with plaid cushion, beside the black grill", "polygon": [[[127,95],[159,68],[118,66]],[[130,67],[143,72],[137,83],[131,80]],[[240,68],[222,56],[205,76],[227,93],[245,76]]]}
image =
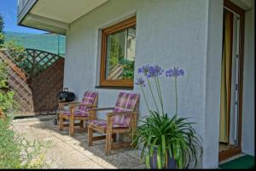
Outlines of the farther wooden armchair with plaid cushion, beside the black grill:
{"label": "farther wooden armchair with plaid cushion, beside the black grill", "polygon": [[[60,102],[59,103],[59,129],[63,130],[64,127],[69,127],[69,134],[73,135],[75,126],[80,126],[80,130],[86,130],[84,122],[90,119],[89,109],[96,108],[98,101],[98,94],[96,92],[84,92],[82,102]],[[64,105],[68,105],[68,110],[64,109]],[[90,112],[92,118],[96,115],[96,112]],[[69,120],[68,124],[64,124],[63,121]],[[79,120],[80,123],[75,123]],[[78,128],[77,128],[78,129]]]}

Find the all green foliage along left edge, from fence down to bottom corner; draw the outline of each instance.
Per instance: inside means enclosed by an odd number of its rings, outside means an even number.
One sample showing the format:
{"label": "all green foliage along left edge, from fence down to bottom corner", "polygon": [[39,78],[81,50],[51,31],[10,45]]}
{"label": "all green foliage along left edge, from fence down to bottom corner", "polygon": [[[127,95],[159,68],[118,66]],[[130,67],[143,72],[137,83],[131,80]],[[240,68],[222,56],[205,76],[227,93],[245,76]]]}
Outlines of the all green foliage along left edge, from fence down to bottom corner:
{"label": "all green foliage along left edge, from fence down to bottom corner", "polygon": [[28,141],[11,127],[15,100],[7,85],[7,65],[0,62],[0,110],[5,115],[0,118],[0,168],[48,168],[42,150],[49,142]]}

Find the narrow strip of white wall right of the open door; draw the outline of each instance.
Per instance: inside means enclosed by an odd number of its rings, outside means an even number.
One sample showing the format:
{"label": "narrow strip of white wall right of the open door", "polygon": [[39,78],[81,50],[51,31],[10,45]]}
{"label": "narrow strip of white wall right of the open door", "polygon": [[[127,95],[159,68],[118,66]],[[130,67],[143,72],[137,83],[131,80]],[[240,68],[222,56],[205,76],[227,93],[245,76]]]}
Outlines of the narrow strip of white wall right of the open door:
{"label": "narrow strip of white wall right of the open door", "polygon": [[247,10],[245,14],[245,44],[244,44],[244,71],[243,71],[243,109],[242,109],[242,140],[241,149],[243,152],[254,154],[254,133],[255,133],[255,33],[254,33],[254,1],[253,9]]}

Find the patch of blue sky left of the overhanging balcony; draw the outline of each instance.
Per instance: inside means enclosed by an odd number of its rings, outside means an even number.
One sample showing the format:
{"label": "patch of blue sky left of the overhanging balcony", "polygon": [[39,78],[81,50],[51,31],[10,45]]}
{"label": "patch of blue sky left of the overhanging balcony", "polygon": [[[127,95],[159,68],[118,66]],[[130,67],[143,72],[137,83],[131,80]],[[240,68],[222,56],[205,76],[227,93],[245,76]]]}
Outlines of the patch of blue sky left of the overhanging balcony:
{"label": "patch of blue sky left of the overhanging balcony", "polygon": [[46,31],[27,28],[17,25],[17,10],[18,0],[0,0],[0,14],[3,16],[4,28],[3,31],[24,32],[41,34]]}

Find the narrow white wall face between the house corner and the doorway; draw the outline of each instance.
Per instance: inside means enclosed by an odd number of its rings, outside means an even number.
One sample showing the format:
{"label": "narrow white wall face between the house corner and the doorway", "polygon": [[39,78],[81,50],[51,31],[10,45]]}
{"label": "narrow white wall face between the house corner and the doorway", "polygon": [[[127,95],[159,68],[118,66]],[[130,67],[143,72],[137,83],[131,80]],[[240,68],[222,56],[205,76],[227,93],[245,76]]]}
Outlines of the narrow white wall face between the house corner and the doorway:
{"label": "narrow white wall face between the house corner and the doorway", "polygon": [[208,5],[205,139],[203,168],[218,168],[218,134],[222,59],[223,1]]}

